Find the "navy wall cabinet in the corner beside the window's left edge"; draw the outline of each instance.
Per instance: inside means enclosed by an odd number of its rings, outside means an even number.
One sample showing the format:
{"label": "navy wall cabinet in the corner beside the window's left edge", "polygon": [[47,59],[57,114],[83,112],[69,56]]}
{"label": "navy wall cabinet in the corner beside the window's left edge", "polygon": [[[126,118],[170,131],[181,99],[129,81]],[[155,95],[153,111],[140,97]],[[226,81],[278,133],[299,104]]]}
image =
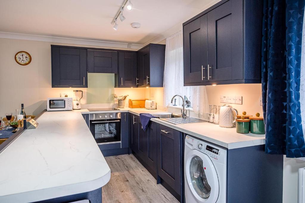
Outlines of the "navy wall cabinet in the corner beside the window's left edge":
{"label": "navy wall cabinet in the corner beside the window's left edge", "polygon": [[163,87],[164,62],[164,44],[148,44],[138,50],[138,87]]}

